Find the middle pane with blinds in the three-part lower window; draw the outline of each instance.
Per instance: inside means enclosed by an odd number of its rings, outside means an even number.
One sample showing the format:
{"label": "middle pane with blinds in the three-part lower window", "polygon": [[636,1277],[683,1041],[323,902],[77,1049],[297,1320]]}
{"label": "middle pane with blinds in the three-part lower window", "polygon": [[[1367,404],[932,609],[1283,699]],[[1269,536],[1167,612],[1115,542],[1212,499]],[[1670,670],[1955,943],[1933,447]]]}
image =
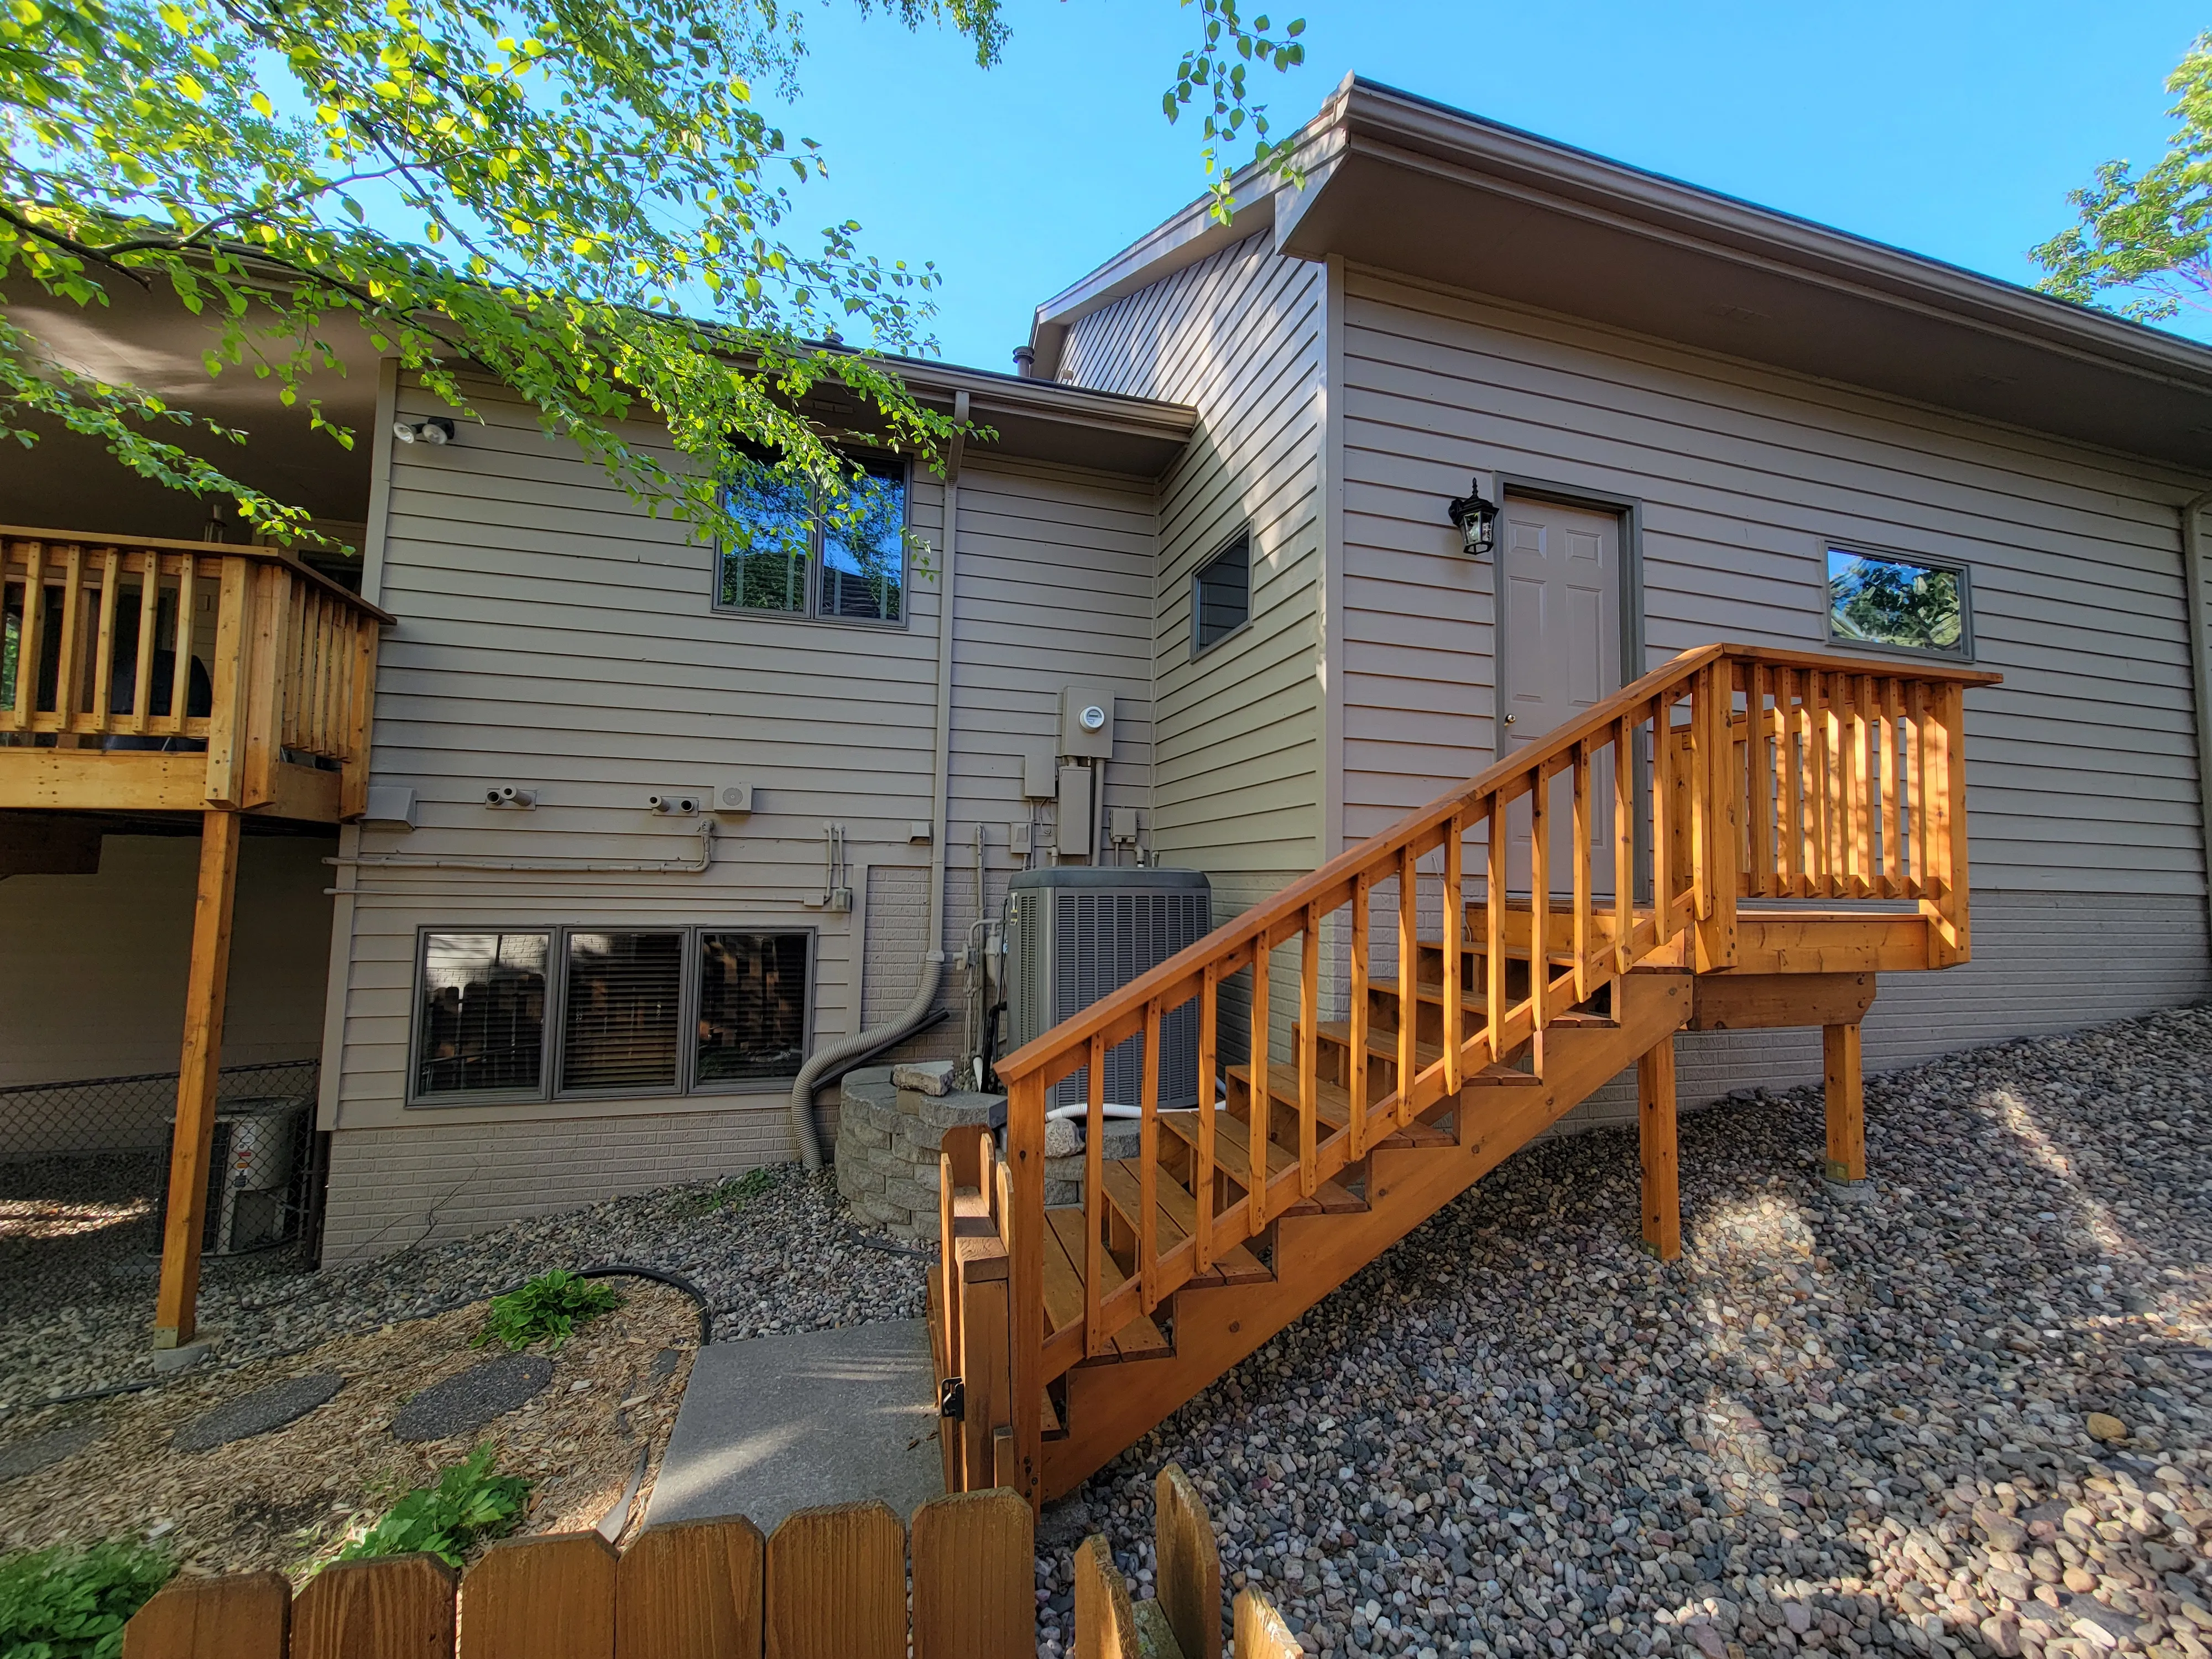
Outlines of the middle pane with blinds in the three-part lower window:
{"label": "middle pane with blinds in the three-part lower window", "polygon": [[562,984],[562,1091],[675,1093],[684,933],[571,933]]}

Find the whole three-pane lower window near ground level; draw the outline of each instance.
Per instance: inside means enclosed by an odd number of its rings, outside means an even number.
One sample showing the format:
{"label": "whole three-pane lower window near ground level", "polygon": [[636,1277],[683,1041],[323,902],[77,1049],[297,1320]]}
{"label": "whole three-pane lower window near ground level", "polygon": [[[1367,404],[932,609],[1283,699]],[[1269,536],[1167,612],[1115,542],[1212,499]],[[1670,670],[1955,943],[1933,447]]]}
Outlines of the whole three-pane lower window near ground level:
{"label": "whole three-pane lower window near ground level", "polygon": [[807,931],[427,931],[409,1099],[790,1082],[807,1053],[812,962]]}

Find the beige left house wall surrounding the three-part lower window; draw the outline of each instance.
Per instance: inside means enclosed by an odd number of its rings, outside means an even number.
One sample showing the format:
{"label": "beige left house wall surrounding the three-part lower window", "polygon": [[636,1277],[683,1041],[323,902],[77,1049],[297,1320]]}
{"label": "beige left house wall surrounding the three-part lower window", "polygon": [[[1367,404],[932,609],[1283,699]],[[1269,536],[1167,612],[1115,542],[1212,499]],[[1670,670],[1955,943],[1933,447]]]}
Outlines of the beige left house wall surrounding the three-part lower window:
{"label": "beige left house wall surrounding the three-part lower window", "polygon": [[[407,387],[398,403],[436,414]],[[411,787],[418,827],[363,830],[358,852],[686,858],[697,823],[653,818],[648,792],[750,781],[754,812],[721,823],[703,874],[349,872],[334,1261],[796,1155],[787,1082],[407,1106],[420,929],[812,929],[816,1046],[860,1029],[863,1009],[902,1006],[927,945],[929,845],[909,827],[931,816],[938,580],[914,575],[902,628],[717,613],[688,526],[646,515],[495,387],[478,409],[484,425],[451,447],[389,460],[374,580],[400,624],[378,661],[372,781]],[[938,571],[942,513],[942,482],[918,473],[909,522]],[[1152,482],[971,451],[958,515],[947,949],[975,914],[975,825],[993,896],[1020,863],[1022,750],[1055,737],[1064,681],[1117,695],[1106,803],[1150,818]],[[487,810],[495,783],[538,790],[538,807]],[[852,914],[803,905],[825,885],[827,823],[845,827]],[[947,971],[940,1000],[958,989]],[[949,1024],[925,1048],[956,1042]]]}

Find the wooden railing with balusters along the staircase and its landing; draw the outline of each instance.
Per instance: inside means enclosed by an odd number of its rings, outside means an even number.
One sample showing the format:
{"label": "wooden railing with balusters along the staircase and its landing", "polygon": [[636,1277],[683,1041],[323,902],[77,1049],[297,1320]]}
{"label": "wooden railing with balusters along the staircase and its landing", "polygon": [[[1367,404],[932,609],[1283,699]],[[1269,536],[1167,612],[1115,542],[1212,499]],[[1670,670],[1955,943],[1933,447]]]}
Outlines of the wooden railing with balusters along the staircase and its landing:
{"label": "wooden railing with balusters along the staircase and its landing", "polygon": [[[1042,1387],[1104,1358],[1367,1148],[1411,1130],[1471,1079],[1537,1082],[1546,1029],[1630,969],[1734,964],[1739,898],[1913,900],[1929,967],[1966,960],[1964,692],[1997,681],[1920,659],[1688,650],[1000,1060],[1006,1157],[991,1210],[1004,1243],[993,1272],[1006,1283],[1009,1376],[991,1391],[1013,1420],[993,1475],[1035,1495]],[[1425,872],[1431,854],[1442,854],[1440,869]],[[1442,900],[1433,942],[1420,929],[1425,880]],[[1371,911],[1389,887],[1396,984],[1374,978],[1369,960]],[[1347,925],[1325,940],[1345,909]],[[1283,1064],[1272,1053],[1272,953],[1292,942],[1296,1051]],[[1228,1068],[1221,1115],[1219,998],[1239,973],[1250,973],[1252,1053]],[[1345,1029],[1332,1035],[1343,1075],[1323,1079],[1316,1040],[1329,993],[1345,1004]],[[1175,1115],[1188,1148],[1177,1155],[1188,1190],[1177,1192],[1155,1168],[1168,1117],[1161,1020],[1192,1000],[1201,1106]],[[1394,1024],[1389,1042],[1369,1024],[1378,1015]],[[1106,1055],[1130,1040],[1141,1042],[1141,1088],[1119,1104],[1137,1108],[1141,1157],[1135,1177],[1115,1170],[1113,1194],[1099,1150]],[[1075,1071],[1086,1075],[1088,1128],[1082,1237],[1048,1241],[1046,1091]],[[1469,1121],[1458,1113],[1462,1144]],[[1234,1152],[1219,1144],[1225,1133],[1241,1139]],[[1164,1192],[1183,1221],[1168,1219]],[[1051,1329],[1046,1250],[1062,1252],[1062,1285],[1082,1279],[1079,1307],[1062,1290]],[[945,1292],[958,1298],[951,1281]]]}

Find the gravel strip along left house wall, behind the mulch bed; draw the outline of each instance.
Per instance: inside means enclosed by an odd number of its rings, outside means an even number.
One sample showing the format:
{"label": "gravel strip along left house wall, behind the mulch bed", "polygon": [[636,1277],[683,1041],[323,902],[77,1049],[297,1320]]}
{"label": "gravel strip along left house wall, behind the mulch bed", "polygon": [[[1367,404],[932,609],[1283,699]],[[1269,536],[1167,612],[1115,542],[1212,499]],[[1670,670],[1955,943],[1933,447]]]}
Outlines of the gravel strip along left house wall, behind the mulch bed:
{"label": "gravel strip along left house wall, behind the mulch bed", "polygon": [[[144,1206],[84,1190],[9,1192],[0,1429],[58,1396],[153,1378],[157,1248]],[[714,1340],[922,1316],[925,1263],[863,1243],[834,1179],[790,1164],[325,1272],[307,1272],[296,1252],[210,1259],[199,1323],[217,1336],[217,1363],[239,1365],[460,1307],[549,1267],[615,1261],[695,1281],[714,1307]]]}

